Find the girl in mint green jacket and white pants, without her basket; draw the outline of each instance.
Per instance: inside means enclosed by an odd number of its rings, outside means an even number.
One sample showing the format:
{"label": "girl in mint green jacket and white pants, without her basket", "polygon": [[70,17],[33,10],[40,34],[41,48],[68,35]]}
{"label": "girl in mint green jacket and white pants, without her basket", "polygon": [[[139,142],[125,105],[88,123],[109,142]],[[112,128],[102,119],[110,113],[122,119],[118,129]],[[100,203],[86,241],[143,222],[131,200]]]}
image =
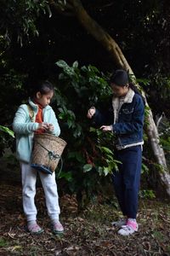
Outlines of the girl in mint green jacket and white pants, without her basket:
{"label": "girl in mint green jacket and white pants, without her basket", "polygon": [[[27,219],[27,229],[32,234],[42,233],[37,224],[36,195],[37,171],[31,168],[31,152],[34,133],[48,132],[58,137],[60,134],[58,120],[49,103],[54,96],[54,87],[48,81],[37,84],[29,104],[22,104],[14,116],[13,130],[16,135],[16,156],[20,160],[22,176],[23,208]],[[48,216],[53,232],[63,232],[59,222],[59,199],[55,173],[52,175],[38,172],[45,193]]]}

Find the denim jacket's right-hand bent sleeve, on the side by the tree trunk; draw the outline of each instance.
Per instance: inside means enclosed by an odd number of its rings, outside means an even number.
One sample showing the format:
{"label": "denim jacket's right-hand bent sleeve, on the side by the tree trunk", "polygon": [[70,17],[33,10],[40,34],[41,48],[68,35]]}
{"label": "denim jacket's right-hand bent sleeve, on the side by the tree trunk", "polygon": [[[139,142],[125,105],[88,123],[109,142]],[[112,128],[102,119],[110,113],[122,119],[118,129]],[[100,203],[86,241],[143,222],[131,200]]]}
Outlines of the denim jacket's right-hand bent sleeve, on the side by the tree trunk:
{"label": "denim jacket's right-hand bent sleeve, on the side by the tree trunk", "polygon": [[139,96],[136,99],[136,104],[133,111],[133,118],[130,122],[118,122],[112,125],[113,132],[117,135],[132,134],[133,132],[140,131],[144,125],[144,102]]}

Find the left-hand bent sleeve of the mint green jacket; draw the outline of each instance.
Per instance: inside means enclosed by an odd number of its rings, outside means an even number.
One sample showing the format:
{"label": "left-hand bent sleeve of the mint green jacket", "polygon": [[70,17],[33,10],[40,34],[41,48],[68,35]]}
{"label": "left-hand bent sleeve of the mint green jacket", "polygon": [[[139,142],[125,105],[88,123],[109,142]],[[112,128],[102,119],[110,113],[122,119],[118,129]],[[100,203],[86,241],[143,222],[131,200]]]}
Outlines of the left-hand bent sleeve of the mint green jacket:
{"label": "left-hand bent sleeve of the mint green jacket", "polygon": [[29,113],[25,104],[20,105],[14,116],[13,130],[16,134],[29,134],[38,129],[38,123],[27,122]]}

